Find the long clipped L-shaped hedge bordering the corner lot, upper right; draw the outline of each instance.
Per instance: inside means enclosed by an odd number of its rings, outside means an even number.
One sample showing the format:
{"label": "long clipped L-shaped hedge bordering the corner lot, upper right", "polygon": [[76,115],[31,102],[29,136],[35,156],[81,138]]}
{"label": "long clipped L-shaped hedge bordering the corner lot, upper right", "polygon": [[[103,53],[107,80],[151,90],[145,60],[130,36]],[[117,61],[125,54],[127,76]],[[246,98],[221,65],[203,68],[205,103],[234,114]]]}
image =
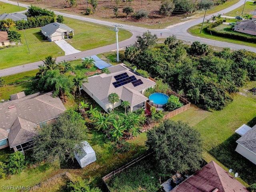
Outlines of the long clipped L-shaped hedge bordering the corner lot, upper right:
{"label": "long clipped L-shaped hedge bordering the corner lot, upper right", "polygon": [[207,32],[211,33],[212,35],[220,36],[220,37],[225,37],[225,38],[230,38],[230,39],[236,39],[236,40],[242,40],[242,41],[247,41],[247,42],[256,42],[256,36],[247,36],[246,34],[242,33],[232,33],[228,31],[218,31],[214,29],[216,26],[219,26],[222,24],[222,20],[218,20],[212,24],[210,24],[207,27]]}

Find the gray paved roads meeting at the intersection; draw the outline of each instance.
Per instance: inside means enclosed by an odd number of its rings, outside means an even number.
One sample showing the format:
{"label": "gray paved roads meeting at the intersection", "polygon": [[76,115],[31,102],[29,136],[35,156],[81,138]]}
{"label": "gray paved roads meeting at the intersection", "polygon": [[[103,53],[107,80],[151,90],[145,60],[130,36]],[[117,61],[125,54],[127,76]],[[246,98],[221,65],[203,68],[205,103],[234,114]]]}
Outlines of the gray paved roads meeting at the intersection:
{"label": "gray paved roads meeting at the intersection", "polygon": [[[6,2],[6,3],[10,3],[10,4],[15,4],[17,5],[16,2],[12,2],[12,1],[8,1],[8,0],[1,0],[2,2]],[[218,15],[218,14],[225,14],[227,12],[230,12],[236,8],[238,8],[239,6],[242,6],[244,4],[244,0],[240,0],[238,3],[230,6],[229,8],[226,8],[220,12],[216,12],[214,13],[214,15]],[[29,7],[26,4],[21,4],[19,3],[20,6],[24,6],[24,7]],[[77,16],[77,15],[72,15],[72,14],[67,14],[67,13],[62,13],[62,12],[57,12],[54,11],[55,14],[60,14],[63,15],[65,17],[68,18],[74,18],[74,19],[78,19],[78,20],[84,20],[87,22],[93,22],[93,23],[97,23],[97,24],[102,24],[102,25],[106,25],[106,26],[113,26],[114,23],[112,22],[107,22],[107,21],[102,21],[102,20],[96,20],[96,19],[92,19],[92,18],[86,18],[84,16]],[[212,15],[206,16],[206,19],[209,19]],[[218,47],[230,47],[231,49],[234,50],[238,50],[238,49],[246,49],[246,50],[250,50],[252,52],[256,52],[255,48],[252,47],[248,47],[248,46],[241,46],[241,45],[236,45],[236,44],[231,44],[231,43],[226,43],[226,42],[220,42],[220,41],[216,41],[216,40],[209,40],[209,39],[204,39],[204,38],[199,38],[196,36],[192,36],[190,35],[187,30],[188,28],[200,24],[202,23],[203,18],[199,18],[199,19],[191,19],[188,20],[186,22],[180,23],[180,24],[176,24],[173,26],[168,26],[165,29],[157,29],[157,30],[149,30],[150,32],[152,32],[153,34],[157,34],[157,36],[160,38],[160,33],[162,33],[162,38],[167,38],[170,35],[176,35],[176,37],[178,39],[184,40],[186,42],[194,42],[194,41],[200,41],[201,43],[206,43],[212,46],[218,46]],[[120,24],[122,25],[122,24]],[[132,32],[132,37],[128,40],[124,40],[122,42],[119,42],[119,47],[125,47],[128,46],[130,44],[133,44],[136,41],[136,36],[137,35],[141,35],[143,32],[145,32],[146,28],[141,28],[141,27],[136,27],[136,26],[128,26],[128,25],[122,25],[122,28],[126,29],[126,30],[130,30]],[[83,51],[83,52],[79,52],[79,53],[74,53],[74,54],[70,54],[70,55],[66,55],[66,56],[61,56],[57,58],[57,62],[62,61],[62,60],[66,60],[66,61],[70,61],[70,60],[76,60],[78,58],[82,58],[82,57],[86,57],[86,56],[92,56],[94,54],[100,54],[103,52],[108,52],[111,50],[115,50],[116,49],[116,44],[111,44],[108,46],[103,46],[100,48],[96,48],[96,49],[92,49],[92,50],[88,50],[88,51]],[[34,70],[38,68],[38,65],[43,64],[42,61],[39,62],[34,62],[34,63],[30,63],[30,64],[25,64],[22,66],[16,66],[16,67],[12,67],[12,68],[7,68],[7,69],[3,69],[0,70],[0,76],[7,76],[10,74],[16,74],[19,72],[25,72],[28,70]]]}

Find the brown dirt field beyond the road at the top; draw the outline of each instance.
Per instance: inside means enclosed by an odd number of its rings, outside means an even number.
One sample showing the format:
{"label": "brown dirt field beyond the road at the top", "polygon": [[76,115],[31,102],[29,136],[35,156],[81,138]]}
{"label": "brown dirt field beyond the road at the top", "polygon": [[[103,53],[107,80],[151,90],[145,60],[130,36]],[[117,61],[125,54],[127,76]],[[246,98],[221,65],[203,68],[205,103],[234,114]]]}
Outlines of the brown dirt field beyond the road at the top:
{"label": "brown dirt field beyond the road at the top", "polygon": [[[77,0],[77,6],[75,8],[71,8],[66,0],[22,0],[20,2],[25,2],[33,5],[43,5],[42,7],[48,9],[58,9],[65,10],[75,14],[84,14],[87,8],[86,0]],[[148,18],[143,18],[136,20],[130,14],[126,17],[126,14],[122,12],[122,9],[126,6],[131,6],[136,12],[137,10],[143,9],[148,12]],[[148,25],[159,24],[159,22],[170,21],[170,19],[176,19],[180,17],[184,17],[184,15],[179,16],[163,16],[159,13],[159,9],[161,6],[160,0],[133,0],[131,4],[126,2],[126,0],[120,0],[118,5],[116,4],[116,0],[98,0],[98,7],[94,14],[90,15],[90,18],[102,18],[102,19],[113,19],[116,21],[124,21],[124,22],[135,22],[135,23],[143,23]],[[114,15],[114,7],[118,8],[118,18]],[[88,3],[88,8],[92,9],[92,6]]]}

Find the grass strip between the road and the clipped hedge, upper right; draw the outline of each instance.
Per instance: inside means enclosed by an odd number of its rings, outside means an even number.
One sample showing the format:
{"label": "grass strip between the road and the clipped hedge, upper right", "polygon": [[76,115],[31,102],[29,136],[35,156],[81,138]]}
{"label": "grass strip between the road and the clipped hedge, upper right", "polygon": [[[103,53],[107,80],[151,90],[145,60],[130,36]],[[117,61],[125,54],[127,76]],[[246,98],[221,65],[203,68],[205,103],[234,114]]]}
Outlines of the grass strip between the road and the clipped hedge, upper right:
{"label": "grass strip between the road and the clipped hedge, upper right", "polygon": [[212,39],[212,40],[223,41],[223,42],[228,42],[228,43],[233,43],[238,45],[256,47],[256,44],[254,43],[211,35],[210,33],[206,32],[206,28],[207,28],[206,23],[204,23],[202,32],[200,34],[201,26],[202,24],[192,26],[191,28],[188,29],[188,32],[194,36],[198,36],[206,39]]}

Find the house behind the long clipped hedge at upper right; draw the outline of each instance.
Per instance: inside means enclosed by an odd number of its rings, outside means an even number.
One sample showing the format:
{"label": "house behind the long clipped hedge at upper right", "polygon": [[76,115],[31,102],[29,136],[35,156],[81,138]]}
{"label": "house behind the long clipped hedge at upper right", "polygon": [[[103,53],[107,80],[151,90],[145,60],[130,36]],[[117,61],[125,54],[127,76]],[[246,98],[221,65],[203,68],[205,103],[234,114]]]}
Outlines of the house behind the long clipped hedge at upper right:
{"label": "house behind the long clipped hedge at upper right", "polygon": [[234,31],[256,35],[256,20],[242,20],[236,22]]}

